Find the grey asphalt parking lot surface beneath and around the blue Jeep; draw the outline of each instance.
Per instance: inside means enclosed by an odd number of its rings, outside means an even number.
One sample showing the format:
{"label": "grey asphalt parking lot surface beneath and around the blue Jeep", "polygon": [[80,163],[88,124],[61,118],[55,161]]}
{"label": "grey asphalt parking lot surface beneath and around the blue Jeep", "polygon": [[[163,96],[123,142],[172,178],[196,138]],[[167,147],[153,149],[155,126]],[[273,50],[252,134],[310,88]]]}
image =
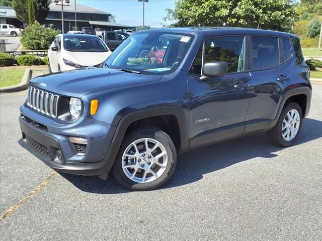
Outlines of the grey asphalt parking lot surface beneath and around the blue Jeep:
{"label": "grey asphalt parking lot surface beneath and around the blue Jeep", "polygon": [[53,173],[20,146],[25,98],[0,95],[1,240],[321,240],[322,85],[295,146],[262,133],[195,150],[148,192]]}

